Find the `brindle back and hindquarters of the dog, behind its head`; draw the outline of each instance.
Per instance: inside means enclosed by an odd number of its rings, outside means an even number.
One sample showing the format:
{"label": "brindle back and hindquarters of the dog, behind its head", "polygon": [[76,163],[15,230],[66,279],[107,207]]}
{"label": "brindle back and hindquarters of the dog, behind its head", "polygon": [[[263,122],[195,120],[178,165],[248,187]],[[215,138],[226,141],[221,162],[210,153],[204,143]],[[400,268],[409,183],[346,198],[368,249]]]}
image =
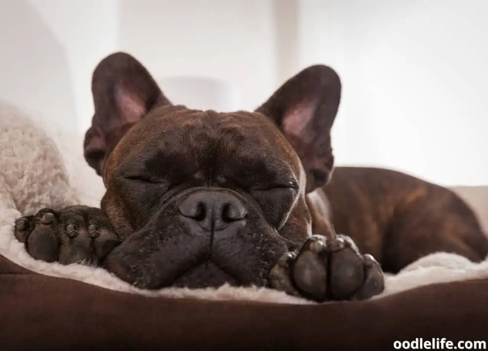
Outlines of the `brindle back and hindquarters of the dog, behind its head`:
{"label": "brindle back and hindquarters of the dog, behind its head", "polygon": [[480,261],[488,239],[468,204],[454,192],[401,172],[337,167],[324,188],[338,233],[396,273],[444,251]]}

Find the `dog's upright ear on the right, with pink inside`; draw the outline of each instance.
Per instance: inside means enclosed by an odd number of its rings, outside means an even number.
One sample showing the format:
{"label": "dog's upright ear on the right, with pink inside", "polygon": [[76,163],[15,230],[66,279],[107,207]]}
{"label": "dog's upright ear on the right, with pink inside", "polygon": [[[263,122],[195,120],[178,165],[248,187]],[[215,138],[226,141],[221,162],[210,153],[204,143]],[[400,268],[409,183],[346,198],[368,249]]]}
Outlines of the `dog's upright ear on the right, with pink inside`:
{"label": "dog's upright ear on the right, with pink inside", "polygon": [[305,168],[306,191],[327,183],[334,166],[330,130],[341,100],[341,79],[330,67],[314,65],[288,79],[256,111],[270,117]]}

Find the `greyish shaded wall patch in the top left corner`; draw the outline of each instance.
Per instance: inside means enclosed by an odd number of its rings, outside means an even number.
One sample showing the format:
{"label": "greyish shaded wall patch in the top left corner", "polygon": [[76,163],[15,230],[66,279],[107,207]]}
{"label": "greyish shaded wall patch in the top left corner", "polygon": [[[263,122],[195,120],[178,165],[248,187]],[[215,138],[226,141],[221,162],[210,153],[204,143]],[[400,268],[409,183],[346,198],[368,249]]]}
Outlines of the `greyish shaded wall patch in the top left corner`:
{"label": "greyish shaded wall patch in the top left corner", "polygon": [[2,1],[0,47],[0,100],[74,125],[68,54],[29,2]]}

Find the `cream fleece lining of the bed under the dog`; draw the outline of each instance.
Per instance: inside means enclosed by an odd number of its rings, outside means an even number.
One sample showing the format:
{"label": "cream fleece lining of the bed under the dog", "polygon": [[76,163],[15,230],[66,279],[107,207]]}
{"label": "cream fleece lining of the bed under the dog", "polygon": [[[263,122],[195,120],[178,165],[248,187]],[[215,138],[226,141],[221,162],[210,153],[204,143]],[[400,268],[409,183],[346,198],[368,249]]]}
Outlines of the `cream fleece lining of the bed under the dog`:
{"label": "cream fleece lining of the bed under the dog", "polygon": [[[275,303],[311,303],[264,288],[176,289],[144,291],[100,269],[78,264],[62,266],[34,260],[13,234],[15,219],[43,207],[84,204],[99,206],[103,195],[100,177],[82,155],[82,137],[66,135],[55,126],[42,128],[20,110],[0,104],[0,254],[31,271],[82,281],[103,288],[146,296],[187,297],[213,300],[254,300]],[[431,254],[397,275],[386,277],[380,296],[414,287],[488,277],[488,260],[475,264],[446,253]]]}

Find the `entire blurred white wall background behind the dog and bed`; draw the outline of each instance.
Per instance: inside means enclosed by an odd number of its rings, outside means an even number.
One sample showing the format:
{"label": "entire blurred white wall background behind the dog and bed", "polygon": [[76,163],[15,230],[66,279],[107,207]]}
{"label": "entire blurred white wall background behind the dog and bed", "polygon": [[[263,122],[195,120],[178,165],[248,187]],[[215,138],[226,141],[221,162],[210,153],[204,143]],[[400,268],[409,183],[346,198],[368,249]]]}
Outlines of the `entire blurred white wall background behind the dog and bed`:
{"label": "entire blurred white wall background behind the dog and bed", "polygon": [[488,184],[487,18],[486,0],[0,0],[0,100],[82,135],[114,51],[220,111],[325,63],[343,82],[337,165]]}

